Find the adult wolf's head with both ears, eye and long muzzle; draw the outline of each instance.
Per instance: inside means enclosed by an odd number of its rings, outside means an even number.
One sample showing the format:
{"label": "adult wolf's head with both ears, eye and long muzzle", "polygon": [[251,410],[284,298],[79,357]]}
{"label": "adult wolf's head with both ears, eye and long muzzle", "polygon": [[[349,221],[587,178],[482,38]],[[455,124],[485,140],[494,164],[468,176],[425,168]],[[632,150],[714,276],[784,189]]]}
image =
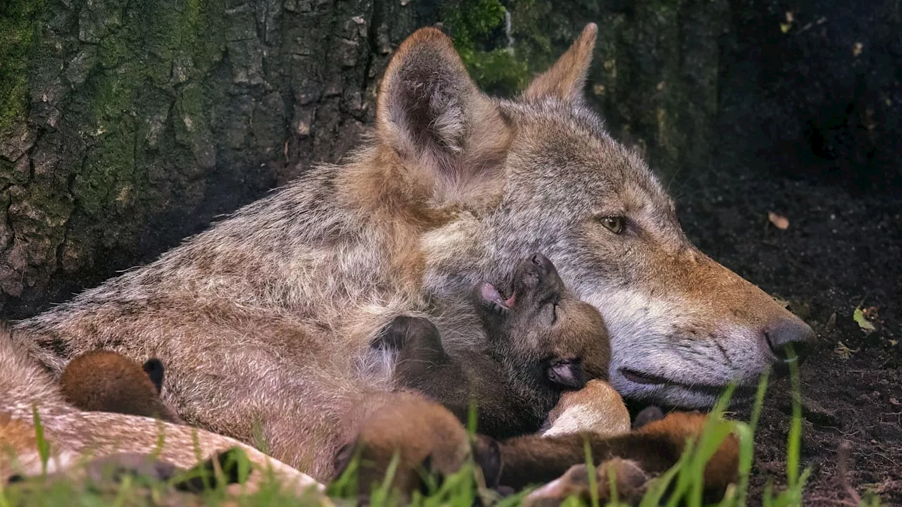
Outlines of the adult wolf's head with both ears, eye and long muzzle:
{"label": "adult wolf's head with both ears, eye and long muzzle", "polygon": [[415,32],[382,80],[377,150],[401,168],[405,195],[455,217],[423,238],[431,296],[510,281],[517,260],[546,253],[602,313],[618,391],[708,406],[727,383],[750,386],[785,363],[785,346],[814,333],[690,244],[647,165],[586,106],[596,32],[586,26],[511,100],[476,88],[446,35]]}

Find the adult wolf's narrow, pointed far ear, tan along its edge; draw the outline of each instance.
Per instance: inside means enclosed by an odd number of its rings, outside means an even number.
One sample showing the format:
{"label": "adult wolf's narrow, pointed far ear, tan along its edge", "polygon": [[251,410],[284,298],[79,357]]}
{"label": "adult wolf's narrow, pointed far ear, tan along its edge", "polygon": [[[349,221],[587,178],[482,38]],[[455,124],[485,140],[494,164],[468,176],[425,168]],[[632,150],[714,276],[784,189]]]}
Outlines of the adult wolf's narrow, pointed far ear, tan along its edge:
{"label": "adult wolf's narrow, pointed far ear, tan along its edge", "polygon": [[585,76],[592,64],[592,52],[595,49],[595,37],[598,25],[589,23],[574,43],[551,69],[532,80],[529,88],[523,92],[527,99],[557,97],[573,104],[583,101]]}

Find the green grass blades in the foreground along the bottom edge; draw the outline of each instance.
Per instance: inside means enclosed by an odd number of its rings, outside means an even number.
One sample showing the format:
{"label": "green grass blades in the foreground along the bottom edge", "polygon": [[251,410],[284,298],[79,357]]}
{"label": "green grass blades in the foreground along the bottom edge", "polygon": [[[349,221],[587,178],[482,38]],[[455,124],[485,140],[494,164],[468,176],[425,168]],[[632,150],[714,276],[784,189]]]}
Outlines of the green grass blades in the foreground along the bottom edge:
{"label": "green grass blades in the foreground along the bottom edge", "polygon": [[[789,356],[791,358],[795,355],[790,352]],[[789,364],[793,410],[787,436],[787,485],[784,488],[777,488],[773,482],[769,481],[765,485],[760,498],[761,505],[765,507],[796,507],[802,505],[805,484],[810,475],[810,468],[806,467],[803,469],[801,466],[802,410],[798,367],[795,362],[790,361]],[[715,404],[701,436],[688,440],[685,451],[676,465],[652,479],[649,483],[648,491],[640,502],[640,507],[658,506],[662,502],[666,502],[667,507],[676,507],[676,505],[702,507],[704,505],[703,479],[705,466],[717,447],[723,442],[723,439],[727,438],[731,433],[739,441],[739,481],[737,484],[729,487],[723,498],[716,504],[721,507],[745,507],[749,500],[749,477],[754,457],[754,436],[765,395],[767,394],[768,380],[768,375],[763,375],[760,379],[748,422],[724,419],[724,414],[734,390],[733,386],[729,386]],[[35,439],[41,456],[42,470],[44,475],[46,475],[47,462],[51,454],[50,444],[44,438],[41,419],[36,409],[32,410],[32,416],[34,419]],[[476,409],[472,407],[467,420],[467,430],[471,437],[474,437],[476,432],[476,419]],[[595,475],[595,458],[598,456],[592,455],[592,448],[588,439],[584,442],[585,465],[588,468],[592,490],[587,503],[591,507],[600,507],[601,502],[597,490],[599,478]],[[162,439],[160,443],[162,443]],[[197,443],[195,445],[197,446]],[[195,450],[198,451],[199,449],[196,447]],[[393,456],[388,474],[384,477],[382,483],[373,484],[374,489],[370,498],[370,503],[373,507],[391,507],[399,504],[399,496],[391,488],[392,480],[398,468],[399,458],[400,456],[397,454]],[[240,482],[244,482],[252,469],[252,464],[244,453],[235,453],[234,456],[227,456],[222,466],[226,470],[235,469],[231,467],[237,467]],[[342,499],[355,499],[358,491],[356,478],[359,466],[359,452],[355,452],[350,464],[345,469],[345,473],[328,485],[327,494],[335,499],[336,503],[341,504],[344,502]],[[197,470],[193,469],[189,471],[189,473],[197,472]],[[616,476],[612,473],[613,471],[609,472],[611,473],[606,478],[611,488],[610,496],[612,501],[608,502],[607,505],[619,505],[616,493]],[[222,474],[222,470],[216,469],[214,473],[218,477]],[[293,497],[281,487],[272,471],[269,471],[268,474],[266,471],[263,471],[263,473],[264,479],[259,491],[242,493],[238,498],[226,493],[226,486],[222,481],[212,483],[210,492],[202,495],[203,504],[212,506],[223,505],[229,502],[230,499],[235,500],[235,502],[230,504],[242,506],[307,506],[318,503],[313,500],[313,496],[301,499]],[[432,480],[428,482],[426,491],[414,493],[409,505],[413,507],[472,507],[474,502],[479,502],[481,499],[483,504],[486,504],[484,502],[484,499],[487,498],[485,493],[479,491],[478,484],[480,482],[478,477],[479,471],[471,459],[456,474],[444,477],[442,481]],[[34,487],[32,483],[42,481],[43,478],[45,477],[36,477],[25,481],[23,484],[8,484],[5,487],[0,487],[0,507],[8,505],[57,504],[97,506],[172,504],[171,499],[168,497],[171,494],[171,489],[167,489],[167,484],[165,483],[148,485],[143,481],[126,477],[119,484],[115,485],[115,489],[112,492],[108,487],[92,488],[87,487],[85,484],[78,484],[65,479],[54,480],[51,482],[51,485],[43,484],[41,487]],[[492,497],[492,504],[497,507],[515,507],[523,502],[524,497],[528,493],[529,490],[513,494],[507,498]],[[144,500],[141,501],[139,499]],[[572,497],[566,499],[562,505],[576,507],[583,506],[584,503],[586,502]],[[880,500],[876,494],[869,492],[863,495],[861,500],[862,507],[878,507],[879,505]]]}

